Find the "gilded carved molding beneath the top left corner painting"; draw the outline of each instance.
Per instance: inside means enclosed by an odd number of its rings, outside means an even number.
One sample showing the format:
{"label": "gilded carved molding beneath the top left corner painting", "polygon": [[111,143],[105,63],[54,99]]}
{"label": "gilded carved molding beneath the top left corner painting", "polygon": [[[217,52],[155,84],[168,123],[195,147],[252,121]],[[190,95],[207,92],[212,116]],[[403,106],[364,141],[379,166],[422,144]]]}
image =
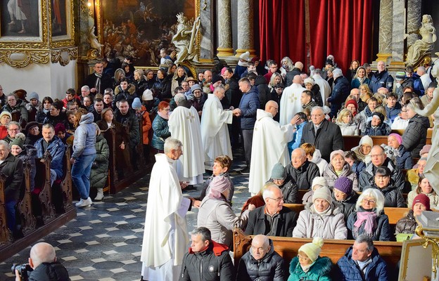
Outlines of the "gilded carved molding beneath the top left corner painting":
{"label": "gilded carved molding beneath the top left corner painting", "polygon": [[0,50],[0,63],[7,63],[11,67],[27,67],[31,63],[49,63],[49,51],[34,50]]}

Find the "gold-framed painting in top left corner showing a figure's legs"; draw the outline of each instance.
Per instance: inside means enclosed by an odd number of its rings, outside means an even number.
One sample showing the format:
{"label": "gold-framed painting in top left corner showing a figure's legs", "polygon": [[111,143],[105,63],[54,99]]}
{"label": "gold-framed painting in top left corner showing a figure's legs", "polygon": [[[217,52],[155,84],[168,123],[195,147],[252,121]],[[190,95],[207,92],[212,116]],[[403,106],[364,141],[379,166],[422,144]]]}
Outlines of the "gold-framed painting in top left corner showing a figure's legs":
{"label": "gold-framed painting in top left corner showing a figure's legs", "polygon": [[42,0],[1,1],[1,41],[41,41],[41,1]]}

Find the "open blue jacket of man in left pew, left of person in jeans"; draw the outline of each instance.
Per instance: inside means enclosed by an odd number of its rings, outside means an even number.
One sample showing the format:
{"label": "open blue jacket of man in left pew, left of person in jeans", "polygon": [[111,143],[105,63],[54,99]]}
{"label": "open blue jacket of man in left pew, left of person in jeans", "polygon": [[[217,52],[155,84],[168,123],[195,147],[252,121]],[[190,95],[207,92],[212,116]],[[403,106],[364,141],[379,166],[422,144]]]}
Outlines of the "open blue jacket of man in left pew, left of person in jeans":
{"label": "open blue jacket of man in left pew, left of person in jeans", "polygon": [[[37,150],[37,158],[42,158],[44,155],[44,138],[40,138],[35,144],[34,148]],[[63,156],[65,152],[65,146],[61,138],[53,136],[52,141],[47,146],[47,150],[51,154],[51,169],[56,172],[56,178],[63,177]]]}

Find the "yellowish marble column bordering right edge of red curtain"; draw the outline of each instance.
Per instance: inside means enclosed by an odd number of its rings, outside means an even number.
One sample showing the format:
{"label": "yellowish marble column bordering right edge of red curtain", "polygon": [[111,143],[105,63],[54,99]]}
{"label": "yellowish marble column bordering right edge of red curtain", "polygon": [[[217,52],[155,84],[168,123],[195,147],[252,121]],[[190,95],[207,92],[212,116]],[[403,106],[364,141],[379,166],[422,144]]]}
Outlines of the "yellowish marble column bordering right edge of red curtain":
{"label": "yellowish marble column bordering right edge of red curtain", "polygon": [[[395,0],[398,1],[398,0]],[[388,63],[392,55],[392,25],[393,25],[393,0],[382,0],[380,3],[378,57],[376,61],[383,60]]]}

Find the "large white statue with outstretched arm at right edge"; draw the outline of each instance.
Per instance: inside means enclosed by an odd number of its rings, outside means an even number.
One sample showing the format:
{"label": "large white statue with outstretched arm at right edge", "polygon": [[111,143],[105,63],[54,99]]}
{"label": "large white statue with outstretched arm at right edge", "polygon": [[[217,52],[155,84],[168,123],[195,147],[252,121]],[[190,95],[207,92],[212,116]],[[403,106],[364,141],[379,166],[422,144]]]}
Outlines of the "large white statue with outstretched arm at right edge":
{"label": "large white statue with outstretched arm at right edge", "polygon": [[[435,53],[439,55],[439,53]],[[439,81],[439,61],[435,62],[433,69],[431,70],[433,77]],[[428,117],[433,115],[434,128],[433,135],[431,136],[431,149],[428,152],[427,163],[424,169],[424,175],[430,181],[430,185],[433,187],[436,193],[439,192],[439,89],[436,88],[433,92],[433,100],[429,103],[424,110],[420,110],[416,103],[414,105],[417,114]]]}

